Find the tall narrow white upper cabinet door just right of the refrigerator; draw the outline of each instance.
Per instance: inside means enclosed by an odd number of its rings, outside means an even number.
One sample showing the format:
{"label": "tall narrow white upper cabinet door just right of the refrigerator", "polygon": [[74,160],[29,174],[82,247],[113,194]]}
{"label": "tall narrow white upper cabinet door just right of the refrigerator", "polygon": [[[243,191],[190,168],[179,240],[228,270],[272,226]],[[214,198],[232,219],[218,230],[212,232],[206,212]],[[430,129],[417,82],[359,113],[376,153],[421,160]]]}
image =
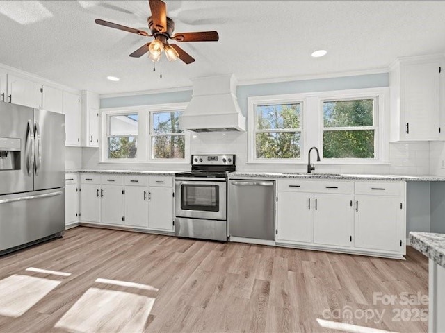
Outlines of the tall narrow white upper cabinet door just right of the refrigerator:
{"label": "tall narrow white upper cabinet door just right of the refrigerator", "polygon": [[65,145],[81,145],[81,103],[80,97],[63,92],[63,113],[65,113]]}

